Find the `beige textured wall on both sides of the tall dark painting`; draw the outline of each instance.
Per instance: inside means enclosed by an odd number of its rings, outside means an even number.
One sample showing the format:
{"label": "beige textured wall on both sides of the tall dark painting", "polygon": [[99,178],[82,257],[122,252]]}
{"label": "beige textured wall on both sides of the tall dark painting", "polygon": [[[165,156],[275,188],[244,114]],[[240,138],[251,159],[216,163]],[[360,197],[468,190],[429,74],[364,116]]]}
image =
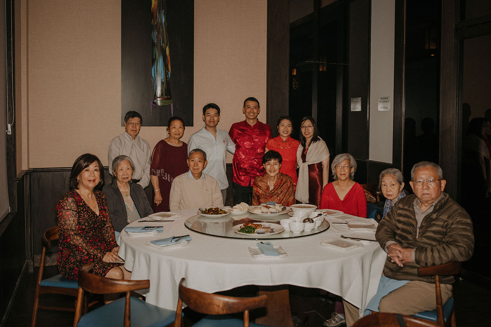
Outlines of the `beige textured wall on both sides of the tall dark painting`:
{"label": "beige textured wall on both sides of the tall dark painting", "polygon": [[[201,128],[207,102],[222,108],[227,131],[249,96],[266,120],[266,11],[263,0],[195,1],[194,126],[183,141]],[[107,165],[123,131],[108,124],[121,110],[120,0],[29,0],[27,20],[27,166],[69,167],[84,152]],[[143,126],[140,136],[153,147],[166,132]]]}

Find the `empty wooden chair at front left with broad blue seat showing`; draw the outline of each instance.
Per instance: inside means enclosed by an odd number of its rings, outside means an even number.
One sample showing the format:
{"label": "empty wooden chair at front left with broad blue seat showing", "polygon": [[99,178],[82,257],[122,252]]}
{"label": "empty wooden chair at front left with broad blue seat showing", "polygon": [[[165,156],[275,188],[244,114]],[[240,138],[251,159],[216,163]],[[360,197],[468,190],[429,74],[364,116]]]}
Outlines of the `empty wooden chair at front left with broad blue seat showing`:
{"label": "empty wooden chair at front left with broad blue seat showing", "polygon": [[[150,280],[124,280],[101,277],[89,273],[88,263],[79,268],[79,294],[75,310],[74,327],[85,326],[167,326],[174,322],[175,311],[164,309],[130,296],[131,291],[150,287]],[[85,291],[95,294],[126,292],[126,297],[110,302],[82,316],[82,298]],[[133,310],[131,310],[131,308]],[[133,312],[133,314],[131,314]]]}

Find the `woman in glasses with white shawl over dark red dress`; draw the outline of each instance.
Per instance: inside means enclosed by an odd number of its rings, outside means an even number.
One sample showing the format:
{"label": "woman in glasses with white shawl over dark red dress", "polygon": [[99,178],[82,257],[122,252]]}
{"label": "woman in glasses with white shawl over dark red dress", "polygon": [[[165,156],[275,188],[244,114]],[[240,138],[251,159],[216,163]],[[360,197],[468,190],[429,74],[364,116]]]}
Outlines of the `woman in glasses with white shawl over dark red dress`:
{"label": "woman in glasses with white shawl over dark red dress", "polygon": [[297,150],[299,180],[295,199],[320,207],[322,190],[329,182],[329,149],[319,137],[319,130],[312,117],[302,118],[300,131],[300,146]]}

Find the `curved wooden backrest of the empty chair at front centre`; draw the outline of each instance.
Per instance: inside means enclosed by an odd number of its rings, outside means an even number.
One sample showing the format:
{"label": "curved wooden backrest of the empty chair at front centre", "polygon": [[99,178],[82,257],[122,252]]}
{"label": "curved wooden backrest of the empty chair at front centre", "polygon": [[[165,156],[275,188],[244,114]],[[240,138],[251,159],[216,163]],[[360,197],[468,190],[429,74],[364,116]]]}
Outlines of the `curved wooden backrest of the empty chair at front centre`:
{"label": "curved wooden backrest of the empty chair at front centre", "polygon": [[182,303],[186,303],[191,310],[196,312],[220,315],[244,312],[244,326],[249,326],[249,310],[266,306],[266,295],[253,298],[236,298],[225,295],[210,294],[193,290],[184,286],[186,278],[179,282],[179,301],[176,310],[175,326],[180,326]]}

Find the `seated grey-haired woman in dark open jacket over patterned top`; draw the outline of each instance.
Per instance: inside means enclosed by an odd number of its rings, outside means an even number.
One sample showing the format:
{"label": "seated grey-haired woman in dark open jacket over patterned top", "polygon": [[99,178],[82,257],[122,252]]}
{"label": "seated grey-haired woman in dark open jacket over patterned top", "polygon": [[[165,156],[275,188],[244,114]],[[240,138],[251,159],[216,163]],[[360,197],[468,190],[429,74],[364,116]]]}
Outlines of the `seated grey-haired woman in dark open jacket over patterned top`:
{"label": "seated grey-haired woman in dark open jacket over patterned top", "polygon": [[152,214],[152,208],[143,188],[131,182],[135,165],[130,157],[118,155],[112,160],[112,177],[102,188],[115,231],[129,223]]}

